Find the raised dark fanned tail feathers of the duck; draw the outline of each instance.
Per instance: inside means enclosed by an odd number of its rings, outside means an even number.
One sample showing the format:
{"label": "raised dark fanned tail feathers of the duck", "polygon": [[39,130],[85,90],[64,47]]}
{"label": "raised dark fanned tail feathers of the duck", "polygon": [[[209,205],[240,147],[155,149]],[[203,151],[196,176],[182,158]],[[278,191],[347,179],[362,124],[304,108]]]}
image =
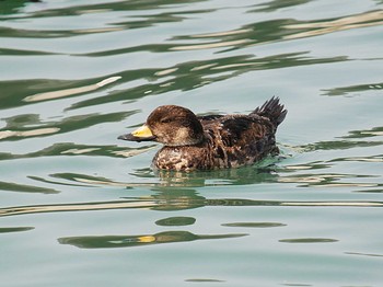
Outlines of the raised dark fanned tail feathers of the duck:
{"label": "raised dark fanned tail feathers of the duck", "polygon": [[286,114],[287,110],[285,110],[285,106],[279,103],[279,97],[275,96],[266,101],[260,107],[258,106],[251,113],[251,115],[258,115],[269,118],[276,126],[283,122]]}

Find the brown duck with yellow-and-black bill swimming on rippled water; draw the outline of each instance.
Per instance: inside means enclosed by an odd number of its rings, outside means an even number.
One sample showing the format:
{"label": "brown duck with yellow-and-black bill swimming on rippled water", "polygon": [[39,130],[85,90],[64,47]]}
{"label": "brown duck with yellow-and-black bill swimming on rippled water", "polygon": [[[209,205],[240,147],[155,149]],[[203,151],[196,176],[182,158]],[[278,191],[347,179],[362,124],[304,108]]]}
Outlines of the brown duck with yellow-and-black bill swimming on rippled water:
{"label": "brown duck with yellow-and-black bill swimming on rippled water", "polygon": [[271,97],[248,115],[196,116],[177,105],[156,107],[146,124],[118,139],[164,145],[153,158],[160,170],[237,168],[278,154],[276,130],[287,110]]}

